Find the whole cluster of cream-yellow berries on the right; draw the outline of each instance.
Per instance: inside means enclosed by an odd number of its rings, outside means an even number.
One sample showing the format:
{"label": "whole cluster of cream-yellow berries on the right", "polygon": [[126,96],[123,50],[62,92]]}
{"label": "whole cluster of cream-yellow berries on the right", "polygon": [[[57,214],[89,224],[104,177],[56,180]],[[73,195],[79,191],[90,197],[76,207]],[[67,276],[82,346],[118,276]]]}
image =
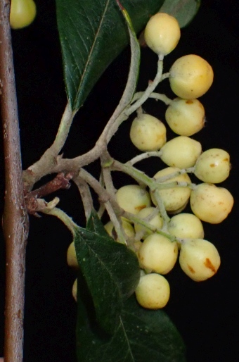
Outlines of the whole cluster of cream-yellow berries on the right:
{"label": "whole cluster of cream-yellow berries on the right", "polygon": [[[169,54],[179,39],[179,24],[166,13],[157,13],[146,25],[146,44],[159,58]],[[125,185],[115,193],[124,211],[120,224],[126,244],[138,256],[141,267],[136,299],[151,309],[167,304],[170,288],[164,275],[174,268],[178,257],[181,269],[192,280],[207,280],[217,273],[219,252],[204,239],[202,222],[221,223],[233,207],[231,193],[215,185],[230,173],[228,152],[217,148],[202,152],[200,142],[190,138],[205,124],[205,109],[197,98],[212,85],[212,67],[200,56],[190,54],[174,62],[168,77],[177,97],[167,99],[166,125],[140,108],[130,130],[131,142],[145,158],[157,152],[165,168],[148,177],[145,185],[138,176],[138,185]],[[167,126],[176,134],[169,141]],[[190,174],[200,181],[197,185],[191,182]],[[182,213],[188,205],[191,212]],[[105,230],[121,242],[112,221]],[[77,267],[73,243],[67,262]]]}

